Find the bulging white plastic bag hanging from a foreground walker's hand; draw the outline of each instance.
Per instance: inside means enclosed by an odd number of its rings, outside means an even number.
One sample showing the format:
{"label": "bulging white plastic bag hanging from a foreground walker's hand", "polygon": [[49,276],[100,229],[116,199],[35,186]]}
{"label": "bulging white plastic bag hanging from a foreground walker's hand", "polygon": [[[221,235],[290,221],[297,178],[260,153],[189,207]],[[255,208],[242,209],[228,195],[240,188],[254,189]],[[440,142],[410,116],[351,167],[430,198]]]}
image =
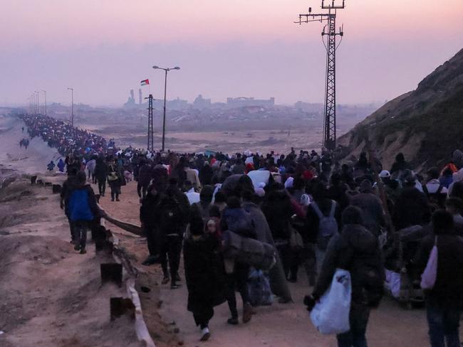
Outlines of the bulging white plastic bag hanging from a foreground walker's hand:
{"label": "bulging white plastic bag hanging from a foreground walker's hand", "polygon": [[350,273],[344,269],[336,269],[331,286],[311,311],[312,324],[318,331],[323,334],[338,334],[350,330],[351,294]]}

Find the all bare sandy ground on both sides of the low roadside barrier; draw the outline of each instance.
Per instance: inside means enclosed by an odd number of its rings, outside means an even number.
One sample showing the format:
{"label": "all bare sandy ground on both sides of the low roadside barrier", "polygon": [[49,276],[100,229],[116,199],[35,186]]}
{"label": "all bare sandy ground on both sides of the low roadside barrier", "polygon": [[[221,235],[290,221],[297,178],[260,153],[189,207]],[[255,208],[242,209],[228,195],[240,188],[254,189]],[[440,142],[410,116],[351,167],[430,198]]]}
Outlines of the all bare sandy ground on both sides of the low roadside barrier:
{"label": "all bare sandy ground on both sides of the low roadside barrier", "polygon": [[[2,176],[14,169],[43,171],[49,159],[56,156],[37,142],[31,146],[36,154],[28,150],[25,158],[24,150],[16,146],[21,139],[20,127],[13,124],[9,129],[1,134],[6,149],[0,156]],[[95,269],[98,259],[91,245],[88,255],[73,251],[57,196],[51,195],[49,188],[30,188],[24,182],[11,183],[9,189],[2,190],[0,196],[0,331],[4,331],[0,346],[137,346],[128,331],[128,321],[109,321],[108,300],[102,293],[117,294],[118,288],[100,288]],[[101,204],[122,220],[139,222],[140,203],[134,182],[123,187],[120,202],[112,203],[105,197]],[[146,240],[109,223],[107,226],[118,233],[121,245],[139,269],[139,287],[150,289],[140,297],[157,346],[336,346],[333,336],[321,336],[313,328],[301,304],[303,296],[311,291],[303,274],[298,283],[290,284],[293,303],[258,308],[249,324],[227,325],[227,305],[217,307],[210,324],[212,338],[199,343],[199,330],[186,309],[185,285],[171,290],[160,284],[160,267],[141,265],[147,256]],[[184,277],[183,269],[180,274]],[[429,345],[425,311],[403,309],[388,298],[372,312],[367,335],[370,346]]]}

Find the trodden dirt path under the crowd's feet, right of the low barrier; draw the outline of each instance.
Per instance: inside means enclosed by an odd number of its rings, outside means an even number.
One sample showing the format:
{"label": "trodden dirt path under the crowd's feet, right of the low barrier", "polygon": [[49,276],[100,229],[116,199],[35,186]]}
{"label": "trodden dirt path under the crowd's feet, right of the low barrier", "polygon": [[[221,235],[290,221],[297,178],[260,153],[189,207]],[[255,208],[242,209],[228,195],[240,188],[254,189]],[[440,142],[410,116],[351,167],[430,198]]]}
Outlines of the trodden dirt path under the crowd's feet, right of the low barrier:
{"label": "trodden dirt path under the crowd's feet, right of the low barrier", "polygon": [[[140,203],[135,183],[128,183],[128,186],[123,187],[119,203],[112,203],[109,198],[103,198],[101,203],[110,214],[118,215],[118,218],[132,223],[139,223]],[[111,229],[118,231],[117,228],[111,227]],[[167,326],[167,331],[171,332],[174,329],[168,328],[169,323],[175,321],[175,326],[180,329],[178,335],[185,346],[199,346],[199,329],[194,326],[192,314],[187,311],[186,287],[183,285],[180,289],[171,290],[169,285],[161,285],[162,272],[159,265],[152,267],[140,265],[147,256],[145,240],[140,237],[121,237],[123,245],[132,252],[137,268],[145,276],[146,283],[149,282],[154,289],[150,293],[142,294],[145,314],[150,314],[152,311],[160,314],[165,321],[164,328]],[[180,274],[183,277],[183,269],[180,270]],[[313,328],[308,318],[308,312],[302,304],[303,296],[311,292],[306,277],[300,274],[299,282],[290,284],[290,287],[293,304],[275,303],[273,306],[260,307],[256,309],[256,315],[249,324],[229,326],[226,323],[229,318],[227,304],[217,307],[210,324],[212,338],[204,343],[204,346],[336,346],[335,338],[322,336]],[[385,298],[380,308],[371,314],[367,335],[370,346],[428,346],[425,311],[402,309],[397,302]],[[173,346],[164,341],[164,335],[156,337],[159,346]]]}

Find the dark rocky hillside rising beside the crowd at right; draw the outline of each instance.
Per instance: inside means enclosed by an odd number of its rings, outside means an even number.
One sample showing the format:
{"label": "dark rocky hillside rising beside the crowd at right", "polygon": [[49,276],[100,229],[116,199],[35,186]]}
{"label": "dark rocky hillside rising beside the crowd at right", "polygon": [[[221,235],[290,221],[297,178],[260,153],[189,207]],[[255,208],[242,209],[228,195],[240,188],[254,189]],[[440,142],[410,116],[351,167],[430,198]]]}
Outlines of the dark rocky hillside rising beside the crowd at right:
{"label": "dark rocky hillside rising beside the crowd at right", "polygon": [[463,148],[463,49],[420,82],[340,137],[347,156],[368,139],[385,168],[402,152],[417,170],[442,164]]}

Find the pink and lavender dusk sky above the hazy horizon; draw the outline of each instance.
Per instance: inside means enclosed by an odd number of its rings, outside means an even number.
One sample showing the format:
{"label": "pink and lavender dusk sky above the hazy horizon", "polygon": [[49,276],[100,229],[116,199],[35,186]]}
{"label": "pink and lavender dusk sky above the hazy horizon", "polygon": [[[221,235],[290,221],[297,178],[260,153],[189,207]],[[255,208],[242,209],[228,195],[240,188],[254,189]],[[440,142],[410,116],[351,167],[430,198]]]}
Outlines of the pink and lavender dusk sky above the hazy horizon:
{"label": "pink and lavender dusk sky above the hazy horizon", "polygon": [[[341,2],[338,0],[338,2]],[[463,48],[463,0],[346,0],[337,51],[339,103],[384,102],[415,89]],[[150,79],[161,98],[198,94],[323,102],[322,23],[293,23],[321,0],[2,0],[0,105],[122,105]],[[147,87],[143,87],[147,94]],[[43,96],[41,96],[43,97]]]}

